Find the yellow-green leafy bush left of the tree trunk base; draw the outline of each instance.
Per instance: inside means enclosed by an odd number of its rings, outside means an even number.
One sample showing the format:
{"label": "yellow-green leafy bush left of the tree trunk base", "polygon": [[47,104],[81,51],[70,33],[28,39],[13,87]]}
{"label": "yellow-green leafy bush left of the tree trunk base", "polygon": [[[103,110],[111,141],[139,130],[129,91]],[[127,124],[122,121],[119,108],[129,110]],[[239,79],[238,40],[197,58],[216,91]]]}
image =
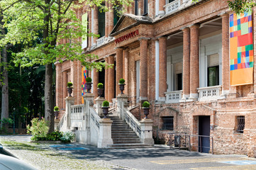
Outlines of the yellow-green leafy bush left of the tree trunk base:
{"label": "yellow-green leafy bush left of the tree trunk base", "polygon": [[45,121],[44,118],[39,120],[38,118],[33,118],[31,120],[32,125],[27,126],[27,132],[32,135],[31,140],[38,140],[40,138],[46,138],[49,130],[49,123]]}

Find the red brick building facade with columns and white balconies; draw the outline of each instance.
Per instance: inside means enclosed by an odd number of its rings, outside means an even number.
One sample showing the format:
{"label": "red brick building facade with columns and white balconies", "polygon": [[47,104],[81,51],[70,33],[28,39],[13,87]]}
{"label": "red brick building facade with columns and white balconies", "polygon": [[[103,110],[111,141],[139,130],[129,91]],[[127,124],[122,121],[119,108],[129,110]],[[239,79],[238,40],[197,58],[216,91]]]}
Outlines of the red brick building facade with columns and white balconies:
{"label": "red brick building facade with columns and white balconies", "polygon": [[[168,132],[211,135],[214,152],[252,156],[256,74],[252,84],[230,85],[229,17],[233,12],[227,1],[144,0],[124,8],[121,18],[115,11],[103,15],[87,6],[77,11],[81,19],[87,13],[89,30],[101,35],[87,38],[84,52],[98,55],[98,62],[114,64],[102,72],[89,71],[95,96],[101,82],[104,97],[112,101],[119,94],[118,80],[126,79],[124,92],[130,100],[151,103],[155,142],[167,143]],[[67,81],[74,84],[74,104],[82,102],[81,69],[75,61],[56,64],[56,102],[62,111]],[[139,108],[131,112],[143,118]]]}

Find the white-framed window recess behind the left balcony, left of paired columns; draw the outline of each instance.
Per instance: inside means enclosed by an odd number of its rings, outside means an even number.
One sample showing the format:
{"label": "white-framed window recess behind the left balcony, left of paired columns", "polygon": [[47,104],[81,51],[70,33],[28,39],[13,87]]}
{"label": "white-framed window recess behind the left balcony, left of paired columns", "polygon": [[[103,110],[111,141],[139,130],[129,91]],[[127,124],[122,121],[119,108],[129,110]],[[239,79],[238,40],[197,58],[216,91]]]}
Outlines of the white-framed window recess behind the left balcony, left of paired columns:
{"label": "white-framed window recess behind the left balcony, left of paired columns", "polygon": [[167,50],[167,91],[182,90],[183,46]]}

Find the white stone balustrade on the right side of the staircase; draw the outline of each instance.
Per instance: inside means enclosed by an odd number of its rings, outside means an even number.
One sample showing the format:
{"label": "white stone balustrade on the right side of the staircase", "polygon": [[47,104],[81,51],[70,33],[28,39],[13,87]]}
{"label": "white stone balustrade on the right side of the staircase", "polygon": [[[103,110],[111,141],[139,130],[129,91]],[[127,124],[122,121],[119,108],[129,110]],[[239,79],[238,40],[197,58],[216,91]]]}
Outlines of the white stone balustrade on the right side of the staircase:
{"label": "white stone balustrade on the right side of the staircase", "polygon": [[126,123],[130,126],[130,128],[133,130],[133,132],[136,133],[138,137],[141,135],[141,127],[140,122],[135,118],[135,116],[128,111],[127,108],[120,108],[120,110],[125,113],[124,120],[126,120]]}

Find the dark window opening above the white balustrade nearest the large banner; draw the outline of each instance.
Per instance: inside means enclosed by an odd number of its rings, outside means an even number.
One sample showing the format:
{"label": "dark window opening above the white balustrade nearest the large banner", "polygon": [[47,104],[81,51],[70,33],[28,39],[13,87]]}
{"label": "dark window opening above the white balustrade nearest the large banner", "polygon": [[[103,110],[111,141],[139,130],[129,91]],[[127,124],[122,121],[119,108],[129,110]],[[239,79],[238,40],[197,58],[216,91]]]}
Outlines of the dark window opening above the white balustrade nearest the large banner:
{"label": "dark window opening above the white balustrade nearest the large banner", "polygon": [[207,85],[217,86],[219,85],[218,66],[208,67]]}

